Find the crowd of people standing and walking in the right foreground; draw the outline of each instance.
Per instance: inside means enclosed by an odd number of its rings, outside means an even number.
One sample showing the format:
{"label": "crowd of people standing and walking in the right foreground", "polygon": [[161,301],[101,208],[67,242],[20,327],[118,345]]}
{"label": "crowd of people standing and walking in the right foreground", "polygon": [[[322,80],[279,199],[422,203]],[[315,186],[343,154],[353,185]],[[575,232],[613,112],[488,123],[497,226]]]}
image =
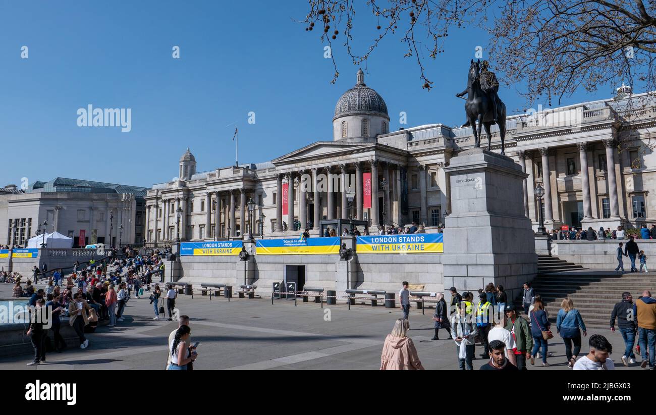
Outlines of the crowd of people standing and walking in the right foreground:
{"label": "crowd of people standing and walking in the right foreground", "polygon": [[[380,357],[380,370],[423,370],[417,349],[411,338],[409,308],[410,295],[408,282],[404,281],[399,292],[403,317],[396,320],[392,332],[386,337]],[[531,284],[523,287],[522,307],[520,310],[508,298],[502,286],[488,284],[478,290],[478,303],[474,302],[472,292],[460,294],[455,287],[451,293],[450,307],[443,295],[437,295],[433,320],[435,336],[445,329],[449,338],[455,341],[457,360],[461,370],[473,370],[476,359],[476,345],[482,345],[480,357],[489,359],[480,370],[527,370],[527,362],[535,366],[541,360],[541,366],[550,366],[548,351],[549,340],[554,338],[553,329],[562,338],[565,345],[565,364],[573,370],[613,370],[615,364],[609,359],[613,346],[607,338],[594,334],[588,339],[588,353],[581,355],[582,338],[588,336],[583,317],[575,308],[572,299],[565,298],[560,304],[556,322],[552,324],[548,311],[544,307],[541,295],[535,294]],[[625,351],[621,357],[624,366],[636,364],[634,346],[636,337],[642,361],[640,367],[650,370],[656,368],[656,298],[645,290],[636,301],[629,292],[622,295],[622,300],[611,311],[609,328],[615,332],[619,326],[625,342]]]}

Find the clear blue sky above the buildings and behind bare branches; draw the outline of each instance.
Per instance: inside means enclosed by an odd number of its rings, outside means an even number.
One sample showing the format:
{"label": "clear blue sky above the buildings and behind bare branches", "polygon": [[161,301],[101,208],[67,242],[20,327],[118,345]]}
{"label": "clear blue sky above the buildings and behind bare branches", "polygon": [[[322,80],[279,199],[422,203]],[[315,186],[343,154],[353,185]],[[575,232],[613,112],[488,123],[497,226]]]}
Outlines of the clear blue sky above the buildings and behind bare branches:
{"label": "clear blue sky above the buildings and behind bare branches", "polygon": [[[323,58],[320,30],[306,32],[307,2],[296,1],[5,1],[0,0],[0,185],[72,177],[150,186],[176,176],[189,146],[197,170],[264,162],[315,141],[332,140],[335,103],[356,70],[334,43],[340,74]],[[375,35],[361,13],[356,47]],[[427,60],[421,88],[415,60],[399,37],[369,60],[365,81],[387,103],[390,129],[464,121],[466,71],[482,32],[449,33],[445,53]],[[341,40],[341,41],[340,41]],[[20,58],[23,45],[29,58]],[[180,47],[180,59],[171,56]],[[361,50],[361,49],[359,49]],[[611,96],[584,91],[563,104]],[[515,89],[501,91],[508,110],[523,108]],[[78,127],[77,109],[132,108],[132,131]],[[256,123],[248,124],[250,111]]]}

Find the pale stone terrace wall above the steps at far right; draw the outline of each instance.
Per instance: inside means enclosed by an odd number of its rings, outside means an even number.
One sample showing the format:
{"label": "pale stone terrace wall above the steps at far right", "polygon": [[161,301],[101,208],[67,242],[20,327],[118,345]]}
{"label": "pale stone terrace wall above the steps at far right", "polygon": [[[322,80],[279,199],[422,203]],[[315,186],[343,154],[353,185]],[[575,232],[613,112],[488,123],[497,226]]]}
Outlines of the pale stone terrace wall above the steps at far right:
{"label": "pale stone terrace wall above the steps at far right", "polygon": [[[573,262],[590,269],[613,270],[617,267],[617,247],[619,242],[624,242],[626,247],[627,239],[605,239],[596,241],[584,240],[552,240],[551,255]],[[645,251],[647,255],[647,266],[656,264],[656,240],[653,239],[636,239],[638,248]],[[626,271],[631,269],[630,260],[623,258],[624,268]],[[636,259],[636,267],[640,269],[639,261]]]}

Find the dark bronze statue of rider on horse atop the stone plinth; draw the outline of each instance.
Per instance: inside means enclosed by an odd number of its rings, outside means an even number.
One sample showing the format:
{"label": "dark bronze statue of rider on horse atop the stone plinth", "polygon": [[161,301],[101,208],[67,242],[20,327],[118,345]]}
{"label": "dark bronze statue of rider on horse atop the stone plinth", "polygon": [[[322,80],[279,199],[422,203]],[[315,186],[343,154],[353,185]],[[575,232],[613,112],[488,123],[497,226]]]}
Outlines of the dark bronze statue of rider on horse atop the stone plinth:
{"label": "dark bronze statue of rider on horse atop the stone plinth", "polygon": [[[501,154],[504,153],[504,139],[506,138],[506,105],[499,99],[499,81],[494,72],[487,69],[487,60],[479,66],[480,60],[474,62],[472,59],[469,66],[469,76],[467,78],[467,89],[456,97],[462,97],[467,94],[464,103],[464,111],[467,114],[467,122],[462,125],[470,125],[474,132],[474,147],[481,146],[481,128],[485,127],[487,134],[487,150],[491,150],[490,126],[499,125],[499,135],[501,136]],[[465,98],[463,98],[465,99]],[[478,121],[478,131],[476,121]]]}

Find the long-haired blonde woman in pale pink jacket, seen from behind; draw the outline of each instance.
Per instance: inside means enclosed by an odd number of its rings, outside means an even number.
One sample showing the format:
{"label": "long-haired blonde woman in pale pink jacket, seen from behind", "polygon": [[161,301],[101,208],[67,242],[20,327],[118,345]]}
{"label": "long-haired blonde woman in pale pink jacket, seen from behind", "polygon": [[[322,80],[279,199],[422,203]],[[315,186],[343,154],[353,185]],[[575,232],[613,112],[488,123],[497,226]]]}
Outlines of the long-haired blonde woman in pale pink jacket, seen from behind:
{"label": "long-haired blonde woman in pale pink jacket, seen from behind", "polygon": [[405,335],[410,324],[399,318],[385,338],[380,355],[380,370],[424,370],[412,339]]}

